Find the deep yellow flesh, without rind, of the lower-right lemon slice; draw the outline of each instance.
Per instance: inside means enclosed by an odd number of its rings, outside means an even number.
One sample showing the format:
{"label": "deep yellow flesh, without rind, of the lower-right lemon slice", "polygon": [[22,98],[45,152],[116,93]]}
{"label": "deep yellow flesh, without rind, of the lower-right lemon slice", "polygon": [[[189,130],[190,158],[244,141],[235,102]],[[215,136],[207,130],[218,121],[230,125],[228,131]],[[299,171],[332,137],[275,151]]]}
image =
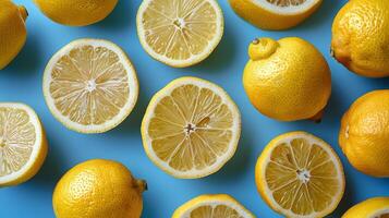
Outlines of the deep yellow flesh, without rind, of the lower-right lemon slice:
{"label": "deep yellow flesh, without rind, of the lower-right lemon slice", "polygon": [[273,199],[296,215],[323,211],[341,189],[330,155],[304,138],[278,145],[265,173]]}

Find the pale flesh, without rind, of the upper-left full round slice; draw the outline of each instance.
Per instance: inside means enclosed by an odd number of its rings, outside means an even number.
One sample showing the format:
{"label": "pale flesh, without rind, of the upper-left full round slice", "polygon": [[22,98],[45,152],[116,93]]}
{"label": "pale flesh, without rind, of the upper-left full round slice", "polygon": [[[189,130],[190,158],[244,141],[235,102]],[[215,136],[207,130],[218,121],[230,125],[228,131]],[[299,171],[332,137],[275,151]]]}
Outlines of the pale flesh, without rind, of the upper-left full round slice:
{"label": "pale flesh, without rind, of the upper-left full round slice", "polygon": [[56,63],[50,95],[62,116],[83,125],[98,125],[124,107],[130,95],[127,80],[117,53],[84,46]]}

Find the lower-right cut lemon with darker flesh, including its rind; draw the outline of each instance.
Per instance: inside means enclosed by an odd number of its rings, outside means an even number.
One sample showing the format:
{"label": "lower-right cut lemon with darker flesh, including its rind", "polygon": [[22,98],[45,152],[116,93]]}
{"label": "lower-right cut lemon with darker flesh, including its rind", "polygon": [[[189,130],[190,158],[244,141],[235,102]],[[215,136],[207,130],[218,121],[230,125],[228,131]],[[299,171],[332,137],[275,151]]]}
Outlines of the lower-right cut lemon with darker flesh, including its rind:
{"label": "lower-right cut lemon with darker flesh, including its rind", "polygon": [[257,160],[255,180],[265,202],[285,217],[325,217],[344,192],[339,157],[306,132],[273,138]]}

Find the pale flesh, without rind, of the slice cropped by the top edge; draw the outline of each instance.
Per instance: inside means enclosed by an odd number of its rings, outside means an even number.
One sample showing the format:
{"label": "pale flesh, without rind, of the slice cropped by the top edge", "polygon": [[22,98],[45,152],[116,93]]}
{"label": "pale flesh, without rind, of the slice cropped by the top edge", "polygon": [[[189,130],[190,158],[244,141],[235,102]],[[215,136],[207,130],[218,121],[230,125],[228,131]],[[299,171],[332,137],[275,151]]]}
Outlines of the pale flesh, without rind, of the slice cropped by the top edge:
{"label": "pale flesh, without rind, of the slice cropped by the top edge", "polygon": [[217,14],[208,0],[154,0],[142,22],[153,50],[174,60],[202,53],[217,33]]}

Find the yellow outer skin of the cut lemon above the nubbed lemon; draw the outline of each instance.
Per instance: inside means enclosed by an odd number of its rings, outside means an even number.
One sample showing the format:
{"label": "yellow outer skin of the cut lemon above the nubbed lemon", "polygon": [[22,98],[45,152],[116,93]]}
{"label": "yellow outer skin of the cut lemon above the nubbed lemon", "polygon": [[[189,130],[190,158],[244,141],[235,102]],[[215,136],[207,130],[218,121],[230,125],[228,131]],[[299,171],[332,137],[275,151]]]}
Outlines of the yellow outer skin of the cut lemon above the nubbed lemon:
{"label": "yellow outer skin of the cut lemon above the nubbed lemon", "polygon": [[323,1],[317,1],[314,7],[306,11],[291,14],[273,13],[253,3],[253,0],[229,0],[229,2],[236,14],[255,26],[269,31],[282,31],[294,27],[305,21],[320,7]]}

